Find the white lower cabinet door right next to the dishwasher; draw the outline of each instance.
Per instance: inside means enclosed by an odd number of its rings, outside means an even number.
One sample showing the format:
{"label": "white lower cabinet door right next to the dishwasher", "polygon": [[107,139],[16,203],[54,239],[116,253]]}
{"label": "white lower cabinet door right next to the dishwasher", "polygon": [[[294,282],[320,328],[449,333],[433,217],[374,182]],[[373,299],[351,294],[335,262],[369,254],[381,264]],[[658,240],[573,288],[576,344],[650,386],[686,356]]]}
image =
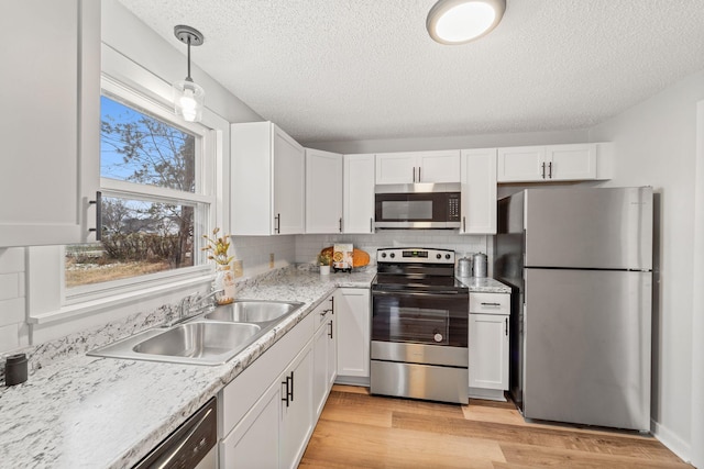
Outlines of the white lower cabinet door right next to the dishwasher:
{"label": "white lower cabinet door right next to the dishwasher", "polygon": [[277,468],[280,384],[274,382],[220,443],[220,467]]}

